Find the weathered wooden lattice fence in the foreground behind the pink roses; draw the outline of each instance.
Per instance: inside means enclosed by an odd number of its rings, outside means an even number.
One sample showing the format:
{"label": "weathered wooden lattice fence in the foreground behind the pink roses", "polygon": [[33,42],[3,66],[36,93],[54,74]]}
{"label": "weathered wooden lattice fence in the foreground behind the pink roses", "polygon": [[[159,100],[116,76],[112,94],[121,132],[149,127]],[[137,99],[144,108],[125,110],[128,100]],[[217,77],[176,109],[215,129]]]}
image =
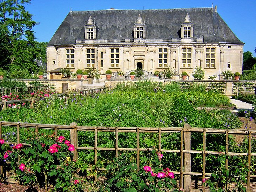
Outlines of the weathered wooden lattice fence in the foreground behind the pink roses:
{"label": "weathered wooden lattice fence in the foreground behind the pink roses", "polygon": [[[158,133],[159,137],[159,146],[158,150],[160,152],[173,152],[180,154],[180,171],[174,172],[175,174],[180,175],[180,187],[184,188],[185,192],[191,190],[191,176],[202,176],[205,178],[206,176],[210,176],[211,173],[206,173],[206,155],[207,154],[225,154],[227,156],[248,156],[248,169],[251,167],[251,157],[256,156],[256,153],[251,152],[251,139],[256,135],[256,130],[242,130],[242,129],[210,129],[210,128],[191,128],[189,124],[184,124],[183,127],[171,127],[171,128],[126,128],[126,127],[102,127],[102,126],[77,126],[76,123],[71,123],[70,125],[55,125],[55,124],[35,124],[35,123],[20,123],[20,122],[5,122],[0,121],[0,139],[2,137],[2,131],[6,126],[16,127],[17,133],[17,143],[20,143],[20,128],[33,128],[34,130],[38,129],[51,129],[54,130],[55,134],[58,135],[59,130],[66,130],[70,132],[70,142],[74,145],[74,159],[78,159],[78,151],[77,150],[94,150],[94,164],[97,162],[97,151],[105,150],[105,151],[115,151],[115,156],[119,155],[120,151],[136,151],[137,153],[137,166],[140,165],[140,151],[148,151],[153,150],[153,148],[140,148],[140,133]],[[93,131],[94,135],[94,146],[92,147],[81,147],[78,146],[78,131]],[[114,148],[104,148],[97,146],[97,133],[98,132],[114,132],[115,134],[115,147]],[[119,148],[118,143],[118,135],[119,133],[127,133],[134,132],[136,133],[136,148]],[[180,149],[162,149],[161,147],[161,139],[162,133],[180,133]],[[191,150],[190,142],[191,142],[191,133],[197,132],[202,133],[203,135],[203,150]],[[221,151],[206,151],[207,134],[224,134],[225,135],[225,152]],[[229,152],[229,135],[244,135],[248,137],[248,152],[247,153],[237,153],[237,152]],[[7,144],[14,144],[13,142],[6,142]],[[26,145],[25,143],[23,143]],[[203,156],[203,168],[202,172],[191,172],[191,154],[198,153]],[[225,160],[225,167],[228,168],[228,158]],[[1,167],[1,176],[3,176],[4,170]],[[252,175],[250,171],[247,174],[247,191],[250,188],[250,178],[255,178],[255,175]],[[205,188],[203,187],[203,191]]]}

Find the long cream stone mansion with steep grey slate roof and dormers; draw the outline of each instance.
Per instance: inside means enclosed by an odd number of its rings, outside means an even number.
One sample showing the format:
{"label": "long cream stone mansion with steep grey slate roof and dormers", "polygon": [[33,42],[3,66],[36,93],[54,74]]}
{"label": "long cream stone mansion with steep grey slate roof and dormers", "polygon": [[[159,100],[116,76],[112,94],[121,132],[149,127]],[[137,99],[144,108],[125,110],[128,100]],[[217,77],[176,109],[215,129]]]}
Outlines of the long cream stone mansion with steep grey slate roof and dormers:
{"label": "long cream stone mansion with steep grey slate roof and dormers", "polygon": [[[123,71],[128,75],[137,67],[152,74],[170,68],[175,71],[174,79],[180,79],[181,73],[186,71],[188,80],[193,79],[195,67],[202,67],[204,79],[216,75],[216,80],[221,80],[221,73],[225,70],[242,73],[243,43],[220,18],[216,7],[180,9],[178,14],[176,11],[70,12],[48,44],[47,70],[61,67],[72,68],[75,72],[77,69],[95,68],[100,74],[111,70],[112,73]],[[119,14],[124,13],[131,15],[129,20],[120,18]],[[111,23],[111,28],[108,28],[109,14],[120,18],[119,22]],[[65,24],[71,25],[72,20],[85,15],[89,15],[89,19],[83,25],[77,24],[78,19],[73,28]],[[135,15],[136,19],[133,19]],[[152,15],[156,15],[156,19]],[[170,19],[172,15],[180,15],[180,18],[171,18],[175,21],[171,20],[173,24],[169,24],[164,19]],[[200,18],[201,15],[204,18]],[[211,23],[212,18],[218,22]],[[126,24],[128,21],[129,25]],[[75,27],[80,27],[80,30],[76,32]],[[163,32],[157,33],[161,28],[164,28]],[[170,28],[170,32],[164,32],[166,28]]]}

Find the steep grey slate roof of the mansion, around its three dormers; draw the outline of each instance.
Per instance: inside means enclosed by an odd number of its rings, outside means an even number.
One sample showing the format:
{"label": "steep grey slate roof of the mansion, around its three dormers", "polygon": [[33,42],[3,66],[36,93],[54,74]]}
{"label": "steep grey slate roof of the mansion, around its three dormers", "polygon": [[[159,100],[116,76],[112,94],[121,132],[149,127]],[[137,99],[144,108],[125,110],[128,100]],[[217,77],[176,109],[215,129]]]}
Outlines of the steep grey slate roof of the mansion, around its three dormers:
{"label": "steep grey slate roof of the mansion, around its three dormers", "polygon": [[97,27],[96,39],[133,39],[134,23],[139,14],[146,23],[146,38],[180,38],[181,23],[189,14],[194,37],[204,42],[243,43],[213,8],[100,10],[69,12],[48,45],[75,44],[85,39],[85,24],[92,16]]}

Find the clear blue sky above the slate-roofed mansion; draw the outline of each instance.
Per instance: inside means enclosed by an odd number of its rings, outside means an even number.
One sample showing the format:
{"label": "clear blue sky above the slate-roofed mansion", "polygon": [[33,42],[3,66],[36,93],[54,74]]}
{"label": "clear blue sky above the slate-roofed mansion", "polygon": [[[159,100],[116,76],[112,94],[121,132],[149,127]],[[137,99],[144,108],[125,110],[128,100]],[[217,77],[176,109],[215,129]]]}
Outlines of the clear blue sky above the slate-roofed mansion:
{"label": "clear blue sky above the slate-roofed mansion", "polygon": [[[72,11],[115,9],[173,9],[211,7],[217,5],[217,12],[244,45],[244,52],[250,51],[256,57],[256,0],[32,0],[26,6],[33,20],[39,42],[49,42],[55,31],[72,8]],[[85,21],[87,18],[85,18]]]}

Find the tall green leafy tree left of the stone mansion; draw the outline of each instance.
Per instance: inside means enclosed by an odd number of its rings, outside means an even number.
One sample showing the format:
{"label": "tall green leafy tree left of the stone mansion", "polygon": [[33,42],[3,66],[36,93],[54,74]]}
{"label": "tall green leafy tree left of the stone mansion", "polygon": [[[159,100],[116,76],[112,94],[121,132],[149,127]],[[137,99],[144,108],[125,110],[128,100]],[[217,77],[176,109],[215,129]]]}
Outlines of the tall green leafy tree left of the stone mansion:
{"label": "tall green leafy tree left of the stone mansion", "polygon": [[0,0],[0,67],[9,70],[37,71],[39,53],[32,28],[36,22],[25,10],[31,0]]}

